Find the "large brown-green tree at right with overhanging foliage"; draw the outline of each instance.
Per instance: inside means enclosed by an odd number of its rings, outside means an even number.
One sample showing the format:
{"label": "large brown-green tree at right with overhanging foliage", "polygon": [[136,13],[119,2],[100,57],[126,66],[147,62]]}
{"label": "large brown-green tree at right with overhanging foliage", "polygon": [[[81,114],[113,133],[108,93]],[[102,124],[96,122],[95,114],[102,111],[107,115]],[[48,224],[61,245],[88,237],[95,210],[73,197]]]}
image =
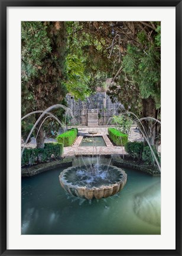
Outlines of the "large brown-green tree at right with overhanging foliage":
{"label": "large brown-green tree at right with overhanging foliage", "polygon": [[[80,26],[93,38],[87,47],[90,59],[100,54],[105,64],[95,62],[95,66],[112,76],[108,91],[112,100],[119,100],[138,118],[160,120],[160,22],[94,21]],[[147,119],[142,125],[151,145],[158,145],[160,125]]]}

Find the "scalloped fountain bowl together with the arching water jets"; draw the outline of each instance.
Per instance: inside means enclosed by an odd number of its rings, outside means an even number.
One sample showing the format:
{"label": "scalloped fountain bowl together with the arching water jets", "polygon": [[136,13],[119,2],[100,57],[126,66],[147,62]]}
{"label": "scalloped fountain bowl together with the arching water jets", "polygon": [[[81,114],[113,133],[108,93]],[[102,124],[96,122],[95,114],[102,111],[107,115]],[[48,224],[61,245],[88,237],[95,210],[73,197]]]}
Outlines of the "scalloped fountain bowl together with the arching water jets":
{"label": "scalloped fountain bowl together with the arching water jets", "polygon": [[[45,116],[45,114],[48,114],[48,116],[45,117],[41,125],[48,118],[54,118],[58,121],[58,123],[61,124],[60,120],[58,120],[56,116],[50,113],[51,110],[55,108],[60,108],[60,107],[66,110],[66,116],[67,116],[67,112],[70,109],[65,107],[64,105],[55,104],[47,108],[45,111],[34,111],[22,117],[22,120],[23,120],[25,119],[25,117],[28,117],[31,114],[41,113],[41,116],[38,118],[38,120],[32,127],[31,132],[28,135],[25,144],[27,143],[32,131],[35,129],[35,126],[37,125],[38,121],[40,121],[41,118]],[[131,112],[126,112],[123,114],[133,114],[135,116],[135,114]],[[137,116],[135,117],[137,118]],[[153,119],[153,118],[145,117],[145,119]],[[139,123],[141,123],[141,120],[139,119],[137,120],[139,121]],[[158,120],[155,119],[155,121],[158,121]],[[148,142],[145,129],[144,129],[144,132],[142,132],[142,135],[145,137],[146,141]],[[149,142],[148,142],[148,145],[150,146]],[[96,152],[97,152],[97,146],[93,144],[93,149],[94,147],[96,148]],[[23,151],[24,151],[24,147],[22,148],[21,153],[23,153]],[[152,148],[151,148],[151,152],[153,152]],[[93,155],[94,155],[94,152],[92,154],[92,160],[93,160]],[[76,167],[69,167],[67,169],[64,169],[64,171],[61,172],[61,174],[59,175],[61,187],[63,187],[63,189],[66,190],[72,196],[76,196],[82,199],[89,199],[89,200],[94,198],[102,199],[109,196],[113,196],[124,188],[127,180],[127,174],[125,173],[125,171],[123,171],[121,168],[110,165],[110,163],[109,165],[99,164],[98,153],[96,153],[96,155],[97,155],[96,164],[93,164],[93,161],[92,161],[92,164],[90,165],[85,164],[85,165],[79,165]],[[160,165],[158,164],[158,161],[155,155],[154,155],[154,159],[157,162],[158,168],[160,169]]]}

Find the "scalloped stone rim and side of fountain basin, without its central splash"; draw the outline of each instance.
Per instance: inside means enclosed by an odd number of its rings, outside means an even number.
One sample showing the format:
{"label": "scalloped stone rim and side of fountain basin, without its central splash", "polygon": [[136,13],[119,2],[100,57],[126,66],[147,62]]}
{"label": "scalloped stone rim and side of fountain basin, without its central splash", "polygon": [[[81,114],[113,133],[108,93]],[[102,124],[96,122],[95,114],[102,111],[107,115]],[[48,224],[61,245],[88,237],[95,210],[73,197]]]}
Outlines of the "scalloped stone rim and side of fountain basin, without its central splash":
{"label": "scalloped stone rim and side of fountain basin, without its central splash", "polygon": [[[101,168],[107,169],[108,165],[100,165]],[[100,186],[93,186],[93,187],[87,187],[87,185],[79,185],[79,184],[73,184],[71,181],[69,181],[67,178],[70,175],[73,175],[74,171],[77,171],[78,169],[83,169],[85,166],[81,167],[69,167],[67,169],[64,169],[63,172],[59,175],[59,180],[61,187],[63,187],[64,190],[66,190],[69,194],[72,196],[77,196],[82,199],[102,199],[109,196],[113,196],[119,191],[121,191],[127,181],[127,174],[124,170],[118,167],[114,167],[112,165],[109,166],[108,172],[117,175],[116,181],[113,181],[111,184],[107,185],[100,185]]]}

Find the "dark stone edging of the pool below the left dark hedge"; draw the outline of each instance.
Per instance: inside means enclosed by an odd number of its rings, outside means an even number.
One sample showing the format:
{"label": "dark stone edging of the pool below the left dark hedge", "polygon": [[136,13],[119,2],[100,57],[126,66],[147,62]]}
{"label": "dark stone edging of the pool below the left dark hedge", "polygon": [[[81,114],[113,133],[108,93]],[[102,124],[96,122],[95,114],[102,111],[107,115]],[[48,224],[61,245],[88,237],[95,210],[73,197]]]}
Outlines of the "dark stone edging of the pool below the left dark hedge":
{"label": "dark stone edging of the pool below the left dark hedge", "polygon": [[35,166],[32,166],[30,168],[22,168],[21,169],[21,176],[22,177],[30,177],[36,174],[39,174],[44,171],[48,171],[50,169],[54,169],[57,167],[70,167],[72,166],[72,159],[65,158],[53,162],[47,162],[44,164],[38,164]]}

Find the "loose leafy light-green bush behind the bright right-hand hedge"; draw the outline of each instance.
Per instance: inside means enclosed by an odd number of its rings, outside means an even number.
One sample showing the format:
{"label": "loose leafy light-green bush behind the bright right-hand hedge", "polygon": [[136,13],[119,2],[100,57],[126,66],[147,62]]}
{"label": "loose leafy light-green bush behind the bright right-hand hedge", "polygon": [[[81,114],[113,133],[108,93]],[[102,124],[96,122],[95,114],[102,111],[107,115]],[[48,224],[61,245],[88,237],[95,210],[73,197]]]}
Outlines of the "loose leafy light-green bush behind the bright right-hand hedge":
{"label": "loose leafy light-green bush behind the bright right-hand hedge", "polygon": [[113,116],[113,123],[116,124],[116,129],[120,132],[127,134],[131,130],[132,120],[127,116]]}

